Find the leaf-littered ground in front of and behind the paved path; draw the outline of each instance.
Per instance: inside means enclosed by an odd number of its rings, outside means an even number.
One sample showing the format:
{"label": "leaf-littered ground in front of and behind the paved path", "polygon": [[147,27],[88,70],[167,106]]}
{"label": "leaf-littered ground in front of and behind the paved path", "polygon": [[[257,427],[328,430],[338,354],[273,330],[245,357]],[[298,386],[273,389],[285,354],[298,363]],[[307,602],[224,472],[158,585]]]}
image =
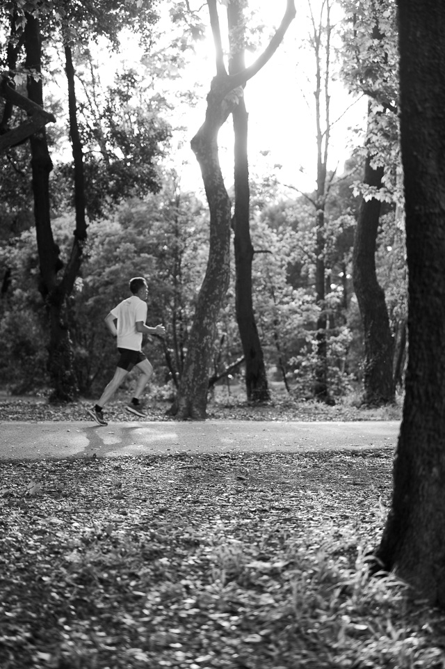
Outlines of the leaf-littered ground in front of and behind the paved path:
{"label": "leaf-littered ground in front of and behind the paved path", "polygon": [[0,666],[443,668],[445,615],[366,569],[393,455],[0,463]]}

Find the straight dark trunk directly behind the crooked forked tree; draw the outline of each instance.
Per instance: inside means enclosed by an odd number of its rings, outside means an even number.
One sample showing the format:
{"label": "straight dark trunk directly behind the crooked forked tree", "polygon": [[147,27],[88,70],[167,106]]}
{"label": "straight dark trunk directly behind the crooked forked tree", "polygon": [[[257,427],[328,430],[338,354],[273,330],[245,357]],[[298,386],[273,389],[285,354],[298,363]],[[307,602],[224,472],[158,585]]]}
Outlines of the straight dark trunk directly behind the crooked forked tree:
{"label": "straight dark trunk directly behind the crooked forked tree", "polygon": [[[229,72],[244,69],[243,4],[227,6],[229,36],[234,36]],[[259,340],[252,301],[252,260],[254,249],[250,238],[250,188],[248,163],[248,112],[241,97],[232,112],[234,120],[234,186],[235,202],[232,228],[235,254],[236,322],[245,357],[245,388],[248,401],[270,400],[263,349]]]}

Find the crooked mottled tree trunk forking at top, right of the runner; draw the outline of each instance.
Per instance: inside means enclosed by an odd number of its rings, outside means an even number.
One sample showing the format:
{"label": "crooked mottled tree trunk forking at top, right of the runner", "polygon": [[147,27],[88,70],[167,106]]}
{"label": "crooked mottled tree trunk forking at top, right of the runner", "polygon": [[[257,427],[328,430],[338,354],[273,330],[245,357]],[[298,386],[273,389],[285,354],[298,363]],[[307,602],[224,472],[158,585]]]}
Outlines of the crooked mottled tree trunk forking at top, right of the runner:
{"label": "crooked mottled tree trunk forking at top, right of the runner", "polygon": [[209,367],[216,333],[216,320],[229,287],[231,202],[225,189],[218,158],[218,131],[242,97],[241,87],[254,77],[273,56],[296,10],[287,0],[280,27],[264,52],[241,72],[227,74],[220,35],[216,0],[207,0],[216,47],[216,77],[207,95],[207,112],[203,125],[193,137],[191,146],[200,164],[204,189],[210,210],[209,260],[195,317],[188,338],[188,350],[179,385],[176,406],[178,418],[204,419],[207,411]]}

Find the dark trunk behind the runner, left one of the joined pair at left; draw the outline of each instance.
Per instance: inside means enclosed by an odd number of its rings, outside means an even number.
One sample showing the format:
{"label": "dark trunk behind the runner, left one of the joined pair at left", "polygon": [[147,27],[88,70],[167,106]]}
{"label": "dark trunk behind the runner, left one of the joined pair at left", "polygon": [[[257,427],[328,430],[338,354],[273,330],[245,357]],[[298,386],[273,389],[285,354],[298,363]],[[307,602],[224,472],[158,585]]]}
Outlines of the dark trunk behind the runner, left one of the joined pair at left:
{"label": "dark trunk behind the runner, left one of the joined pair at left", "polygon": [[[40,26],[38,19],[26,15],[25,25],[26,68],[41,71]],[[28,77],[28,95],[32,102],[43,106],[42,80]],[[59,248],[51,230],[49,206],[49,174],[52,162],[49,156],[44,127],[30,137],[31,171],[33,180],[34,217],[40,262],[40,292],[49,313],[48,371],[54,400],[70,400],[76,394],[73,354],[65,317],[65,295],[58,284],[58,272],[63,267]]]}

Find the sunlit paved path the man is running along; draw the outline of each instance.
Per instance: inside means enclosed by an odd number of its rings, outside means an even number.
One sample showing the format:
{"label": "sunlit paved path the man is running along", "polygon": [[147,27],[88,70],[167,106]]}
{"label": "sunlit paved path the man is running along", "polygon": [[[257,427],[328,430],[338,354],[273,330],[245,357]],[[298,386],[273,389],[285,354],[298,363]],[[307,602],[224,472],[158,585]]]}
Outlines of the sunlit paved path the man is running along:
{"label": "sunlit paved path the man is running along", "polygon": [[394,448],[398,421],[131,421],[99,427],[82,421],[0,422],[0,460],[124,456],[178,452],[309,452]]}

